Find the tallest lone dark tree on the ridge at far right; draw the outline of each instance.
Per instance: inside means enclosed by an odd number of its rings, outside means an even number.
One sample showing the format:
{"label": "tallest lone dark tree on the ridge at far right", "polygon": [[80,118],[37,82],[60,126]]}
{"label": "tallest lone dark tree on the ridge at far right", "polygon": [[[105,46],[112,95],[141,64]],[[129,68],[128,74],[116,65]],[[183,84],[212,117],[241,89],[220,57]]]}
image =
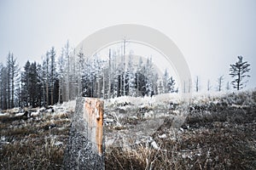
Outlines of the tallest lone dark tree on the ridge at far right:
{"label": "tallest lone dark tree on the ridge at far right", "polygon": [[235,78],[235,80],[231,82],[233,88],[240,90],[245,86],[246,82],[244,82],[244,78],[250,77],[247,74],[250,71],[250,65],[247,63],[247,61],[242,61],[242,56],[238,56],[237,58],[238,61],[236,61],[235,64],[230,65],[230,76]]}

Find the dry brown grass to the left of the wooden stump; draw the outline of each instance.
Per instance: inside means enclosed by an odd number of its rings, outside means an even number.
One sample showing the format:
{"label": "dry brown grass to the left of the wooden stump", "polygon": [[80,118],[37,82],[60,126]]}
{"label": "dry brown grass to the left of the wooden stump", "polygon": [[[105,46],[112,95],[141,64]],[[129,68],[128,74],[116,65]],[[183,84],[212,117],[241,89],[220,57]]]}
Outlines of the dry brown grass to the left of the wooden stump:
{"label": "dry brown grass to the left of the wooden stump", "polygon": [[60,169],[70,122],[52,117],[1,116],[0,169]]}

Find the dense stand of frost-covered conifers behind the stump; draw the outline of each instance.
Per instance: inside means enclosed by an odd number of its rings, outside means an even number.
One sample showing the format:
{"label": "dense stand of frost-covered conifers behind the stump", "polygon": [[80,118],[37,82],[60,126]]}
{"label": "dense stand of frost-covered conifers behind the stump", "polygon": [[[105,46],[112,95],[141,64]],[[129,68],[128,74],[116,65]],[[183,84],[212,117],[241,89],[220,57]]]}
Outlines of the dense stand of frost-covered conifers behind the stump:
{"label": "dense stand of frost-covered conifers behind the stump", "polygon": [[134,61],[131,54],[119,57],[109,49],[106,59],[97,55],[85,59],[69,42],[59,56],[54,47],[50,48],[41,63],[27,60],[22,68],[10,52],[6,64],[0,63],[2,110],[47,107],[79,96],[112,99],[177,93],[177,90],[172,75],[167,69],[159,75],[151,58],[142,56]]}

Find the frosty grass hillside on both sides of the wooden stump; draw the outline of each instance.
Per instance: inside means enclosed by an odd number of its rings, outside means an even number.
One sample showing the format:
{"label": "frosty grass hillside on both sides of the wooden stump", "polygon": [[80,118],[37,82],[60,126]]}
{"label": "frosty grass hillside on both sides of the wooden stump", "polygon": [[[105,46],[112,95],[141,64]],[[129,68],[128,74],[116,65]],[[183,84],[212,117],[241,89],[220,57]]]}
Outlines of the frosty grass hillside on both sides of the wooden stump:
{"label": "frosty grass hillside on both sides of the wooden stump", "polygon": [[[60,169],[74,106],[2,111],[1,169]],[[122,97],[104,112],[106,169],[256,169],[255,91]]]}

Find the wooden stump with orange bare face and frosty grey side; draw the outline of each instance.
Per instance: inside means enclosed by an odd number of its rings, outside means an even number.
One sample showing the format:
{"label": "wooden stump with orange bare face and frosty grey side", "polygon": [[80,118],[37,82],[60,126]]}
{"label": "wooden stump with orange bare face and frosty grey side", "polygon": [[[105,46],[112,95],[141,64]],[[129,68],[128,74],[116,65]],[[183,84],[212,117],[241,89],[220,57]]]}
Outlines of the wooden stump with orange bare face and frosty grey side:
{"label": "wooden stump with orange bare face and frosty grey side", "polygon": [[63,169],[105,169],[101,99],[77,99]]}

